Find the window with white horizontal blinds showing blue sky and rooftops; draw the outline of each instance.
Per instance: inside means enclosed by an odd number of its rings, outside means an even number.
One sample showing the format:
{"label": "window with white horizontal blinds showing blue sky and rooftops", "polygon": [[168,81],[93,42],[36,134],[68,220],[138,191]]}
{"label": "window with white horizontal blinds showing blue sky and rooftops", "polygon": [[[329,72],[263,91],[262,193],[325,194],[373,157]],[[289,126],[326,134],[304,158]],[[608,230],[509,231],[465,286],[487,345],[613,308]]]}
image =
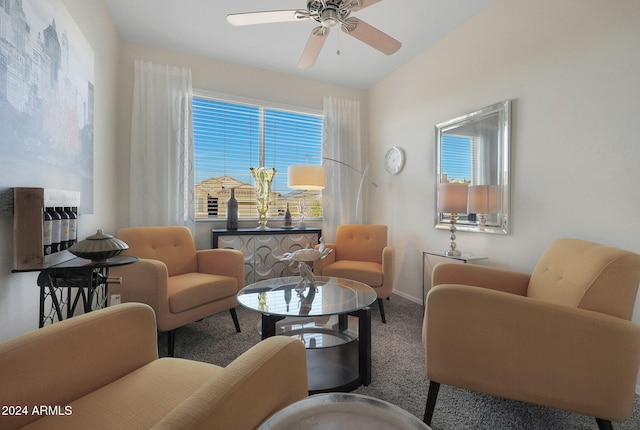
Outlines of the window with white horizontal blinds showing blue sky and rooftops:
{"label": "window with white horizontal blinds showing blue sky and rooftops", "polygon": [[196,218],[226,219],[235,189],[240,218],[255,219],[255,189],[250,167],[275,167],[269,218],[282,217],[287,203],[293,217],[298,204],[307,218],[322,217],[320,191],[287,187],[291,164],[320,164],[322,115],[205,95],[193,97]]}

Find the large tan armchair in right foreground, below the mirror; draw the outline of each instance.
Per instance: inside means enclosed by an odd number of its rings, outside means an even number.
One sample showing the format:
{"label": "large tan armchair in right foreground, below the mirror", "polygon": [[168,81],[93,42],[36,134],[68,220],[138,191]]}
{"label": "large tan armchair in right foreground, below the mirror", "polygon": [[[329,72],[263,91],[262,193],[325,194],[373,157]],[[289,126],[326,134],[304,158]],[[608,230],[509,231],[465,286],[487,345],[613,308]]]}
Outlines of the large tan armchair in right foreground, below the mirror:
{"label": "large tan armchair in right foreground, below the mirror", "polygon": [[430,424],[440,384],[595,417],[633,407],[640,255],[559,239],[531,274],[441,263],[423,326]]}

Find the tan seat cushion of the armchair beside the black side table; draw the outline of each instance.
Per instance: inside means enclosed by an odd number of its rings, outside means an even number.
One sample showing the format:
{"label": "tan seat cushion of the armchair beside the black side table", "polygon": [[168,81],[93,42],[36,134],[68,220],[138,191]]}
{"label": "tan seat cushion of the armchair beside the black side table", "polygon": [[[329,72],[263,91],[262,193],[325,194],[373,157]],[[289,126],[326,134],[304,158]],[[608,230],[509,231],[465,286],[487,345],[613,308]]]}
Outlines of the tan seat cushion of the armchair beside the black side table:
{"label": "tan seat cushion of the armchair beside the black side table", "polygon": [[169,308],[172,313],[180,313],[236,295],[236,278],[207,273],[185,273],[171,276],[167,281]]}

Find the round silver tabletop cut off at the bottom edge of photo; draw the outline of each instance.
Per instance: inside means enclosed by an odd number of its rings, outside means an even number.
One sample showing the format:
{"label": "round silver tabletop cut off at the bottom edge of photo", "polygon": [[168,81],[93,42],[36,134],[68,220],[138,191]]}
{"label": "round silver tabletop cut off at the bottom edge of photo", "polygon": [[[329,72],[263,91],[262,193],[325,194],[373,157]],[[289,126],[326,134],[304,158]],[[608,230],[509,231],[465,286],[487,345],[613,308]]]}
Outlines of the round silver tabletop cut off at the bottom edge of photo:
{"label": "round silver tabletop cut off at the bottom edge of photo", "polygon": [[353,393],[317,394],[291,404],[258,430],[425,430],[414,415],[374,397]]}

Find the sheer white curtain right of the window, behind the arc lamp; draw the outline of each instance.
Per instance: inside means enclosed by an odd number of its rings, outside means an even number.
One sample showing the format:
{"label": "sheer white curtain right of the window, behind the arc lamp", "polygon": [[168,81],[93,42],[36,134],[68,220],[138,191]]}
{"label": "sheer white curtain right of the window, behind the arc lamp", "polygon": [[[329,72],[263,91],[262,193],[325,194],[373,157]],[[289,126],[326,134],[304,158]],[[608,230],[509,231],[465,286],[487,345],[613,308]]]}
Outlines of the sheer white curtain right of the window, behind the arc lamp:
{"label": "sheer white curtain right of the window, behind the arc lamp", "polygon": [[[346,163],[363,171],[366,160],[360,139],[360,102],[336,97],[324,98],[324,126],[322,155]],[[361,175],[339,163],[323,160],[327,172],[326,187],[322,191],[322,235],[326,243],[335,241],[340,224],[361,222],[366,207],[366,192],[360,201],[359,220],[356,220],[356,198]],[[366,191],[366,184],[365,184]]]}

